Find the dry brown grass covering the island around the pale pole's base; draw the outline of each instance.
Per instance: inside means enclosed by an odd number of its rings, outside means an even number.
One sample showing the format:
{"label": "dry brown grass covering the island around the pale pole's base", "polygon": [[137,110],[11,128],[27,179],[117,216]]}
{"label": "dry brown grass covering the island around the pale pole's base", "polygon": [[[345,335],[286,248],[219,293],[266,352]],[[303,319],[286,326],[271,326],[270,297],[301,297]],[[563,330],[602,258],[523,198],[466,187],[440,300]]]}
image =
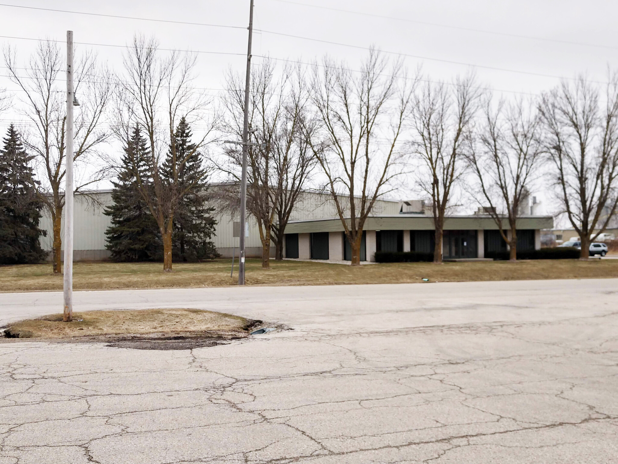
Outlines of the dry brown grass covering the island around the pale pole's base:
{"label": "dry brown grass covering the island around the pale pole's base", "polygon": [[200,309],[143,309],[137,311],[85,311],[74,313],[73,322],[62,314],[22,320],[7,333],[19,338],[74,338],[101,335],[246,335],[251,321],[222,312]]}

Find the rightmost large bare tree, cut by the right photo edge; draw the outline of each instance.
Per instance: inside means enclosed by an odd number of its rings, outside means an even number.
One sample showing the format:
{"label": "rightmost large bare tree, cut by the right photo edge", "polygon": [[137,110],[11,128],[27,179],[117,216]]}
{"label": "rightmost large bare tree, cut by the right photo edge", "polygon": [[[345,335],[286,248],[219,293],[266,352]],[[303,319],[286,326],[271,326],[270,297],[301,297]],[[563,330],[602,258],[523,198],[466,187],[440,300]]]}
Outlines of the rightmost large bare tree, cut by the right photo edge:
{"label": "rightmost large bare tree, cut by the right photo edge", "polygon": [[544,93],[540,111],[562,212],[580,236],[580,259],[588,259],[618,205],[618,75],[610,76],[603,101],[585,77],[563,81]]}

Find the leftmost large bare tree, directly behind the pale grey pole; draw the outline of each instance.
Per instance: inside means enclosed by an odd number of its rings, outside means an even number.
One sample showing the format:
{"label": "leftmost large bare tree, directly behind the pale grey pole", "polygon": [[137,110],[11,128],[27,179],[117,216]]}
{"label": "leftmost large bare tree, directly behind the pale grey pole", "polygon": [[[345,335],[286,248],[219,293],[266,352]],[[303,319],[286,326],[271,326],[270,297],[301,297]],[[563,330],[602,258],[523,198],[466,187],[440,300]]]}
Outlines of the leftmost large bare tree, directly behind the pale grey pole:
{"label": "leftmost large bare tree, directly behind the pale grey pole", "polygon": [[[23,129],[23,140],[35,157],[41,183],[38,195],[49,211],[53,224],[53,269],[61,272],[61,218],[64,208],[66,166],[66,87],[61,72],[66,69],[57,43],[40,41],[25,70],[20,72],[14,49],[4,49],[9,77],[20,90],[21,111],[31,121],[32,130]],[[109,138],[103,129],[106,108],[111,97],[111,79],[106,68],[98,66],[92,53],[82,55],[74,72],[75,94],[80,108],[75,116],[75,153],[77,179],[75,192],[104,178],[97,169],[100,147]],[[93,166],[95,169],[93,170]],[[101,166],[102,167],[102,166]]]}

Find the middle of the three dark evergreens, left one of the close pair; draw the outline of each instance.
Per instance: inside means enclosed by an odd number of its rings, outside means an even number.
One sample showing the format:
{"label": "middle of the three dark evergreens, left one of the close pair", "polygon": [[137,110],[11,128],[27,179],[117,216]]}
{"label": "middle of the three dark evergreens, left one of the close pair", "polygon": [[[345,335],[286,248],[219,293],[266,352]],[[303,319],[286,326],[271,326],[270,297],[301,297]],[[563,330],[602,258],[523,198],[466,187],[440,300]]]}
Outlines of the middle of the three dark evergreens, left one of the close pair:
{"label": "middle of the three dark evergreens, left one of the close pair", "polygon": [[137,176],[148,179],[150,151],[142,131],[135,127],[122,157],[123,170],[114,182],[113,204],[104,214],[111,217],[112,225],[105,232],[107,249],[114,261],[148,261],[163,257],[161,233],[155,218],[137,189]]}

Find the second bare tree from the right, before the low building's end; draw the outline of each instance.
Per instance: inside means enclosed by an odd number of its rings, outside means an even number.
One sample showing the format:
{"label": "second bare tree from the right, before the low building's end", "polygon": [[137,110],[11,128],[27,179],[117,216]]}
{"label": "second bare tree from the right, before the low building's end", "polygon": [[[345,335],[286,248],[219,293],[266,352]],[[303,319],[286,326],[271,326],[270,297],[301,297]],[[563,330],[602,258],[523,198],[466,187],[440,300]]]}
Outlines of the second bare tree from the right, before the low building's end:
{"label": "second bare tree from the right, before the low building's end", "polygon": [[[496,222],[509,246],[510,260],[517,259],[517,217],[528,198],[530,184],[538,177],[543,154],[541,121],[534,101],[519,100],[496,110],[485,102],[483,123],[471,140],[467,158],[478,183],[472,195]],[[508,221],[508,232],[504,219]]]}

